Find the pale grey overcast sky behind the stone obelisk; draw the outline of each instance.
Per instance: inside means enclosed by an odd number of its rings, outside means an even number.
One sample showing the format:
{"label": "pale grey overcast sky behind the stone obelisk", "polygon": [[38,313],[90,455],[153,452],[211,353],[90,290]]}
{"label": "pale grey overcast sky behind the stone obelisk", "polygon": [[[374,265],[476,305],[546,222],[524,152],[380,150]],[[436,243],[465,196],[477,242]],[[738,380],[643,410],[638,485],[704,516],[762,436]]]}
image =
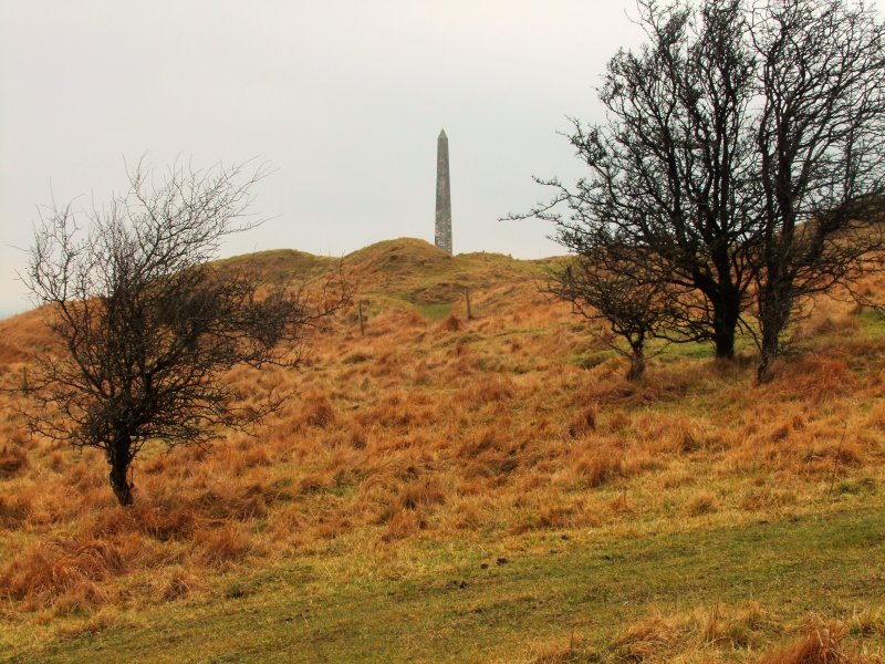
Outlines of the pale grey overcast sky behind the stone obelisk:
{"label": "pale grey overcast sky behind the stone obelisk", "polygon": [[433,241],[436,139],[451,164],[455,252],[562,252],[540,221],[498,221],[577,176],[558,132],[598,117],[595,86],[641,41],[633,0],[0,1],[0,315],[37,206],[163,168],[259,156],[273,217],[226,256],[342,256]]}

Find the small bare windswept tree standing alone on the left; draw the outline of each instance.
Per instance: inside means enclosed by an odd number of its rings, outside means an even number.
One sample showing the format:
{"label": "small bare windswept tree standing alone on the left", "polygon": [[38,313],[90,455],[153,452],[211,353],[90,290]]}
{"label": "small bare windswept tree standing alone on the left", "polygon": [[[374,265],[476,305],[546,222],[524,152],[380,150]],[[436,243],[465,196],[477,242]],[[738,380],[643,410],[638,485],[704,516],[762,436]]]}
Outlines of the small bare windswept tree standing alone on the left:
{"label": "small bare windswept tree standing alone on the left", "polygon": [[223,372],[296,365],[305,331],[347,300],[342,283],[311,300],[209,262],[225,237],[259,224],[246,211],[262,176],[176,164],[155,181],[139,164],[105,208],[41,214],[23,278],[60,343],[29,376],[28,421],[103,450],[121,505],[133,501],[128,470],[145,443],[205,444],[278,407],[272,393],[243,403]]}

